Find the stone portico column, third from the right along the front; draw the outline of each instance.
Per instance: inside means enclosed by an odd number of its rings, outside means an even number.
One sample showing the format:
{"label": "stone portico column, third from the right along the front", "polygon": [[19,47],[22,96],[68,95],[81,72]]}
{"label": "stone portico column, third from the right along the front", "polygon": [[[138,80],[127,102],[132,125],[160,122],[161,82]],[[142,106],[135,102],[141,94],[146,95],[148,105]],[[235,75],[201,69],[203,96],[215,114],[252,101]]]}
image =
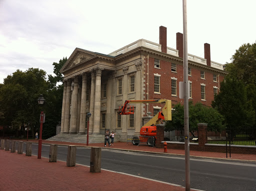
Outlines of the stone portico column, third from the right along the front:
{"label": "stone portico column, third from the right along the front", "polygon": [[86,88],[87,88],[87,75],[82,73],[82,88],[81,88],[81,107],[80,107],[80,125],[79,134],[85,133],[85,119],[86,119]]}

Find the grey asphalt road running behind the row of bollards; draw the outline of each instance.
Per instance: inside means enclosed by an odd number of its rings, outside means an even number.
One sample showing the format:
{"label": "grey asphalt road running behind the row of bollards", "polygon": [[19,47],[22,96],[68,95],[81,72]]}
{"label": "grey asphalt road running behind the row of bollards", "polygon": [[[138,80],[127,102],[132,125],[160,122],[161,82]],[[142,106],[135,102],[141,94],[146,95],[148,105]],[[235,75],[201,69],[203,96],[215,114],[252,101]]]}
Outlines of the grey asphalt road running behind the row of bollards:
{"label": "grey asphalt road running behind the row of bollards", "polygon": [[[23,151],[25,152],[25,143]],[[32,144],[37,155],[38,144]],[[67,146],[58,146],[57,160],[66,161]],[[48,157],[49,145],[42,145]],[[90,163],[90,148],[76,149],[76,164]],[[185,186],[184,157],[101,149],[101,168]],[[256,163],[190,157],[190,187],[202,190],[256,190]]]}

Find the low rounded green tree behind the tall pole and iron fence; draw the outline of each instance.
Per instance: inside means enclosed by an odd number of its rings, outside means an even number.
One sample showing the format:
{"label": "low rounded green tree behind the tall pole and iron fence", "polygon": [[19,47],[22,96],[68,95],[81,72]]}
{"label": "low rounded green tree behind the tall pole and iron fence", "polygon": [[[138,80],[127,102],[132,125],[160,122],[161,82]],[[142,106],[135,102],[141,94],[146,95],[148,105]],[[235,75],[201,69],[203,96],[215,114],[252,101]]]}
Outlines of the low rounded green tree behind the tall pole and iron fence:
{"label": "low rounded green tree behind the tall pole and iron fence", "polygon": [[[173,106],[172,120],[165,123],[165,131],[183,129],[184,127],[184,106],[177,103]],[[192,101],[188,104],[189,112],[189,131],[197,129],[197,123],[207,123],[209,130],[221,131],[225,126],[223,116],[216,109],[202,105],[197,102],[193,105]]]}

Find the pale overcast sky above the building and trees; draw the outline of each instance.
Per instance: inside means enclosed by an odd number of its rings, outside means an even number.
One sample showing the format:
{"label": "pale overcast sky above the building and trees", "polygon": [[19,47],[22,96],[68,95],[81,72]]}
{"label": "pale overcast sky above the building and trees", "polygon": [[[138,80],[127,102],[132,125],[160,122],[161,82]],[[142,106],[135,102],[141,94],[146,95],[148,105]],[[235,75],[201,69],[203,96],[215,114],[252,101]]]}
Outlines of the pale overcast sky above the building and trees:
{"label": "pale overcast sky above the building and trees", "polygon": [[[243,43],[256,40],[255,0],[187,0],[188,53],[224,64]],[[39,67],[75,47],[108,54],[140,38],[167,46],[183,33],[182,0],[0,0],[0,83],[17,69]]]}

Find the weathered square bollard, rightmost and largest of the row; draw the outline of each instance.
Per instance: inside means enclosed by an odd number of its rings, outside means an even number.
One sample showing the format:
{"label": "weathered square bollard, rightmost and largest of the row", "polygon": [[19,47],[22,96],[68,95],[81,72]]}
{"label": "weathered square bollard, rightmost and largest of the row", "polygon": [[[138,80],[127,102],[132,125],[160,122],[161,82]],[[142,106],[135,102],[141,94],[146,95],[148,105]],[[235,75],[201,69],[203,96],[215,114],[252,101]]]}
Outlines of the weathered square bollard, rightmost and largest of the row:
{"label": "weathered square bollard, rightmost and largest of the row", "polygon": [[92,147],[90,150],[90,172],[100,172],[101,169],[101,148]]}

